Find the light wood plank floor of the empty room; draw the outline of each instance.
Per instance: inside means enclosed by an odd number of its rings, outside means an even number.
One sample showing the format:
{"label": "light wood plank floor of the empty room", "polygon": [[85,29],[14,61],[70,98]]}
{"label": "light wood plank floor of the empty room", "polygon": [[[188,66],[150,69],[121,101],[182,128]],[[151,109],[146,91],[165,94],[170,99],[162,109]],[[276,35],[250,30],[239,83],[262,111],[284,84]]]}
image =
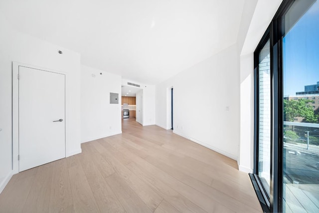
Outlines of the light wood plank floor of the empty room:
{"label": "light wood plank floor of the empty room", "polygon": [[14,175],[0,194],[0,213],[20,212],[262,210],[248,174],[234,160],[170,130],[125,119],[123,134],[84,143],[81,154]]}

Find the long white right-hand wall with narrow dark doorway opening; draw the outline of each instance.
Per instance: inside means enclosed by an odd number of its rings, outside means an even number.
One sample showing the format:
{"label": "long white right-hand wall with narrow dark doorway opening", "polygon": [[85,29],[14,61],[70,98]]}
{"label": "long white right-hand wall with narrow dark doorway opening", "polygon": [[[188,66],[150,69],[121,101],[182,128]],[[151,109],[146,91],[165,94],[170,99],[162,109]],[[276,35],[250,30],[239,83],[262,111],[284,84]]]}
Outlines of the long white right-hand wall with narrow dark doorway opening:
{"label": "long white right-hand wall with narrow dark doorway opening", "polygon": [[156,86],[156,124],[169,129],[167,88],[173,86],[174,133],[237,160],[239,57],[232,45]]}

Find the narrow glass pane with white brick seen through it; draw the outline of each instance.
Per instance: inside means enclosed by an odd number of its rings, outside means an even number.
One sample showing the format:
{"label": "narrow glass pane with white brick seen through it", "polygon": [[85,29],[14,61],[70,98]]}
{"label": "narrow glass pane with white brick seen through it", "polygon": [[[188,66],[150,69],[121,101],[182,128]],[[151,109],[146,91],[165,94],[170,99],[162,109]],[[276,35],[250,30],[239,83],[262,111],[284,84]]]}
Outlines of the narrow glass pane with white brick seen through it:
{"label": "narrow glass pane with white brick seen through it", "polygon": [[259,155],[258,176],[265,191],[270,191],[270,41],[259,52]]}

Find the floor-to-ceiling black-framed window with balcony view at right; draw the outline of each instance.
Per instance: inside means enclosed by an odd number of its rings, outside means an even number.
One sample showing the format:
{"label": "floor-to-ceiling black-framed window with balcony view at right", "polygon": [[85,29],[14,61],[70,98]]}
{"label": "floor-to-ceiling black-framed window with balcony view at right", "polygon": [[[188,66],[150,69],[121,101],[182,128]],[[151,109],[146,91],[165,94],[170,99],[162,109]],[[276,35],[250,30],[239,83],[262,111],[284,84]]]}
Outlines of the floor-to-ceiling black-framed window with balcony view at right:
{"label": "floor-to-ceiling black-framed window with balcony view at right", "polygon": [[319,0],[284,0],[254,52],[250,177],[265,212],[319,212],[319,110],[307,96],[318,89],[318,23]]}

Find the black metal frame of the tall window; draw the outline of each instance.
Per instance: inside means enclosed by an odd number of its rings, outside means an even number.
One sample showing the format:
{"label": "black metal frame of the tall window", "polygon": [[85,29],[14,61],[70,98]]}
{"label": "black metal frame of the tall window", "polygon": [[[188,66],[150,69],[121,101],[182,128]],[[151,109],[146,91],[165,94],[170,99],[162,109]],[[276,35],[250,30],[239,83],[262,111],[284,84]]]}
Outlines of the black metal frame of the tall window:
{"label": "black metal frame of the tall window", "polygon": [[[283,0],[273,20],[254,51],[254,170],[250,178],[264,212],[283,212],[283,66],[282,38],[283,18],[296,0]],[[259,52],[270,39],[271,75],[271,158],[270,195],[258,178],[259,165]],[[267,200],[268,198],[268,200]]]}

